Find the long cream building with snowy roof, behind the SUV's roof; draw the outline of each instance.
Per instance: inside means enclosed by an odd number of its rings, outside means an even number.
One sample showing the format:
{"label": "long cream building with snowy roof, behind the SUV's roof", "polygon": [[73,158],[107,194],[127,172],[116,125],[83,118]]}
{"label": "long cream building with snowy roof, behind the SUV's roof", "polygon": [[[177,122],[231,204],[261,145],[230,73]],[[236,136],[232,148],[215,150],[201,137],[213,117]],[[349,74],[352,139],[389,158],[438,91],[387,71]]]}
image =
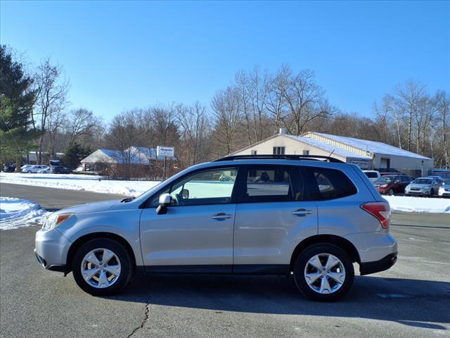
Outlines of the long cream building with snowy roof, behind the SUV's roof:
{"label": "long cream building with snowy roof, behind the SUV's roof", "polygon": [[[282,130],[281,130],[282,132]],[[276,134],[236,151],[232,155],[297,154],[323,155],[354,163],[361,169],[398,170],[414,177],[428,175],[433,159],[382,142],[355,139],[319,132],[302,136]]]}

